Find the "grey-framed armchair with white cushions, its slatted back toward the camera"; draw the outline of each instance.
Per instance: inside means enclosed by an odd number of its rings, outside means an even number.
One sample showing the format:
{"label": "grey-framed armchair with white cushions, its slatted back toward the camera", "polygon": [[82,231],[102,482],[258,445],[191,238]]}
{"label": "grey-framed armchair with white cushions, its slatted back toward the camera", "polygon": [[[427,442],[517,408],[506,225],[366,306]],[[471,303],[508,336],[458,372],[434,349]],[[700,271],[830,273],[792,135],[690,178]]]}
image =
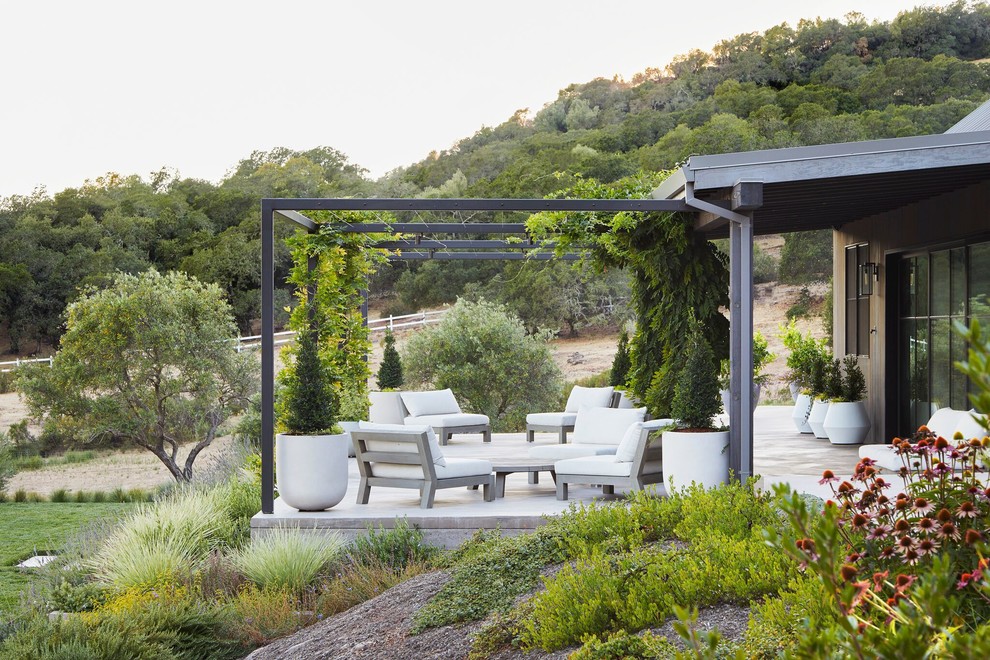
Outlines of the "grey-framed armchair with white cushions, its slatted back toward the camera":
{"label": "grey-framed armchair with white cushions, its slatted back toward the camera", "polygon": [[361,422],[351,432],[361,483],[358,504],[367,504],[372,486],[415,488],[420,507],[433,508],[440,488],[484,487],[486,502],[495,496],[495,475],[489,461],[446,458],[433,428],[426,425]]}

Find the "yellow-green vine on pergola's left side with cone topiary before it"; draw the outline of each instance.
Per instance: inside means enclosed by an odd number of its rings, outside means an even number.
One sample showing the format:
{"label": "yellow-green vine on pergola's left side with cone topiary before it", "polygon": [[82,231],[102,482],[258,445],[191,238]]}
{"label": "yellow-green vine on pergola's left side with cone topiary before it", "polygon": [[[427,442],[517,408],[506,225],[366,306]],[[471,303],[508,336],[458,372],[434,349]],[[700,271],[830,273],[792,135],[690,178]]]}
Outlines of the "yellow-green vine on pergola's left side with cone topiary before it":
{"label": "yellow-green vine on pergola's left side with cone topiary before it", "polygon": [[362,292],[388,255],[370,247],[382,235],[339,229],[342,223],[382,222],[380,214],[348,211],[311,217],[316,231],[286,240],[292,254],[288,280],[296,286],[298,301],[289,327],[299,333],[299,341],[283,353],[288,366],[279,374],[277,406],[280,427],[302,434],[331,431],[345,392],[367,398],[371,340],[361,317]]}

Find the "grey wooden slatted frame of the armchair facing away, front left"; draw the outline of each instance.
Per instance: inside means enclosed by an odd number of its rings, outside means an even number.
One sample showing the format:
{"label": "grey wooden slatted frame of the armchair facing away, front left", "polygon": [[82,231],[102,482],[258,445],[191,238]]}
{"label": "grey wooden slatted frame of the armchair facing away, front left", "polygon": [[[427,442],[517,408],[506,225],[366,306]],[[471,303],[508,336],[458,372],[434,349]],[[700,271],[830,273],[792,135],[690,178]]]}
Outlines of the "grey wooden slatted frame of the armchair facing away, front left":
{"label": "grey wooden slatted frame of the armchair facing away, front left", "polygon": [[[358,504],[367,504],[372,486],[388,486],[390,488],[415,488],[420,492],[420,508],[432,509],[433,498],[439,488],[456,488],[467,486],[477,488],[484,486],[486,502],[491,502],[495,496],[495,475],[471,475],[467,477],[452,477],[440,479],[437,477],[436,466],[433,464],[433,452],[430,450],[428,435],[422,433],[398,433],[393,431],[351,431],[354,443],[354,454],[361,472],[361,483],[358,487]],[[403,442],[416,445],[416,452],[369,451],[368,442]],[[397,463],[400,465],[417,465],[423,468],[424,479],[403,479],[399,477],[376,477],[371,471],[371,463]]]}

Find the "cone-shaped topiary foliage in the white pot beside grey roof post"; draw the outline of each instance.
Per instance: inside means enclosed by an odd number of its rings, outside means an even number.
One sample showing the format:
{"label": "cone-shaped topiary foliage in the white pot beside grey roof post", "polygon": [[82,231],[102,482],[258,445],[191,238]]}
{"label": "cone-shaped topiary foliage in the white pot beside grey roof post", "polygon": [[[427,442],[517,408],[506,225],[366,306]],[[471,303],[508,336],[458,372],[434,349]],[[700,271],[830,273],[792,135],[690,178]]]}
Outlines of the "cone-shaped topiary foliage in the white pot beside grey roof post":
{"label": "cone-shaped topiary foliage in the white pot beside grey roof post", "polygon": [[684,429],[711,429],[722,407],[718,363],[711,346],[695,327],[685,346],[683,368],[677,374],[671,414]]}

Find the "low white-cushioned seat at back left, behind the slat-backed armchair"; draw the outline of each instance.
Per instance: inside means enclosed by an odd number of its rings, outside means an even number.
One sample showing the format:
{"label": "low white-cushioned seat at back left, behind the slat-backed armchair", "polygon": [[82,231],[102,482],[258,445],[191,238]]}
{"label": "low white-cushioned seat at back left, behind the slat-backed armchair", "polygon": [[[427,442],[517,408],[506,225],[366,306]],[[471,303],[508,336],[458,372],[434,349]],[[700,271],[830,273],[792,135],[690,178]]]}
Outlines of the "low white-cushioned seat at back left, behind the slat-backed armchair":
{"label": "low white-cushioned seat at back left, behind the slat-backed armchair", "polygon": [[369,419],[380,424],[431,426],[441,445],[454,433],[481,433],[484,442],[492,441],[491,421],[487,415],[461,411],[450,389],[425,392],[371,392]]}

